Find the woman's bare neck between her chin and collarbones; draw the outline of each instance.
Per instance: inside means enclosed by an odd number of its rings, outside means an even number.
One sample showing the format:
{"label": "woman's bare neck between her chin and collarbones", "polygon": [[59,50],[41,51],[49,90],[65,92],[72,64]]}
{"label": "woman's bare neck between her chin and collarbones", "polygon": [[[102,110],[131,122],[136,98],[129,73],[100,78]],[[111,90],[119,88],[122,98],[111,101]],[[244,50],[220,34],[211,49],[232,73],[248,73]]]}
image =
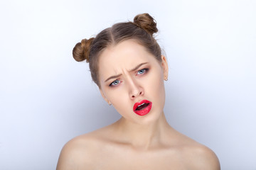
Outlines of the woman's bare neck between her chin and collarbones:
{"label": "woman's bare neck between her chin and collarbones", "polygon": [[117,121],[116,126],[119,140],[137,149],[149,149],[158,146],[166,138],[167,130],[171,128],[164,113],[161,113],[159,119],[146,125],[131,123],[121,118]]}

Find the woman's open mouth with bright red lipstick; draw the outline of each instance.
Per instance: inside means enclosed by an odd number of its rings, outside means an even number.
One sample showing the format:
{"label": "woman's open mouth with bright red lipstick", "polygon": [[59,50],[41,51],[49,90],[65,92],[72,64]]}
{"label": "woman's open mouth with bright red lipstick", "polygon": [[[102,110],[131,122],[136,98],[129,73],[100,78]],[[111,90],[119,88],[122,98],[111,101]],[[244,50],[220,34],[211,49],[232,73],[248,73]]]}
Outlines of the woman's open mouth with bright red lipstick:
{"label": "woman's open mouth with bright red lipstick", "polygon": [[152,102],[143,100],[134,104],[134,113],[137,115],[146,115],[151,110]]}

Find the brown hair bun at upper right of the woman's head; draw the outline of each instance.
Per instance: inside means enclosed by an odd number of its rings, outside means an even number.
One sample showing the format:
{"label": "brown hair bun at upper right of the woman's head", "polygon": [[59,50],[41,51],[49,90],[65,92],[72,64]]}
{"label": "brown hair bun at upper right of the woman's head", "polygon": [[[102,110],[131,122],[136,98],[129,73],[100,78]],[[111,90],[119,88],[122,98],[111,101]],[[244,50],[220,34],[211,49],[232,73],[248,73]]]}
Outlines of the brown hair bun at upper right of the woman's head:
{"label": "brown hair bun at upper right of the woman's head", "polygon": [[156,21],[149,13],[142,13],[134,17],[134,23],[140,28],[146,30],[146,32],[153,35],[157,33],[158,29],[156,28]]}

